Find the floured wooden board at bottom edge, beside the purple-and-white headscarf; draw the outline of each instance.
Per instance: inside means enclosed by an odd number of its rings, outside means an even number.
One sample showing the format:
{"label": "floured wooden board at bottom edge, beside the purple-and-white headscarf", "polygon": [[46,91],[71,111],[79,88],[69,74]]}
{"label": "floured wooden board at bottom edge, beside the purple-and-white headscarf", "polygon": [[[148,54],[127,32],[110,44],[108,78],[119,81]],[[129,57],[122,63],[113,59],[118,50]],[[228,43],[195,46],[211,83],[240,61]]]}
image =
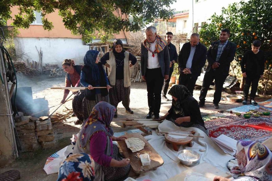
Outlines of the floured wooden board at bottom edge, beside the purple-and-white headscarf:
{"label": "floured wooden board at bottom edge, beside the purple-and-white headscarf", "polygon": [[189,174],[192,172],[203,174],[205,175],[206,178],[209,178],[211,181],[213,181],[216,175],[220,175],[223,177],[227,176],[227,174],[224,171],[219,170],[218,168],[210,165],[209,163],[201,163],[193,167],[188,167],[188,169],[185,170],[184,172],[181,172],[180,174],[166,181],[183,181],[186,177],[186,174]]}

